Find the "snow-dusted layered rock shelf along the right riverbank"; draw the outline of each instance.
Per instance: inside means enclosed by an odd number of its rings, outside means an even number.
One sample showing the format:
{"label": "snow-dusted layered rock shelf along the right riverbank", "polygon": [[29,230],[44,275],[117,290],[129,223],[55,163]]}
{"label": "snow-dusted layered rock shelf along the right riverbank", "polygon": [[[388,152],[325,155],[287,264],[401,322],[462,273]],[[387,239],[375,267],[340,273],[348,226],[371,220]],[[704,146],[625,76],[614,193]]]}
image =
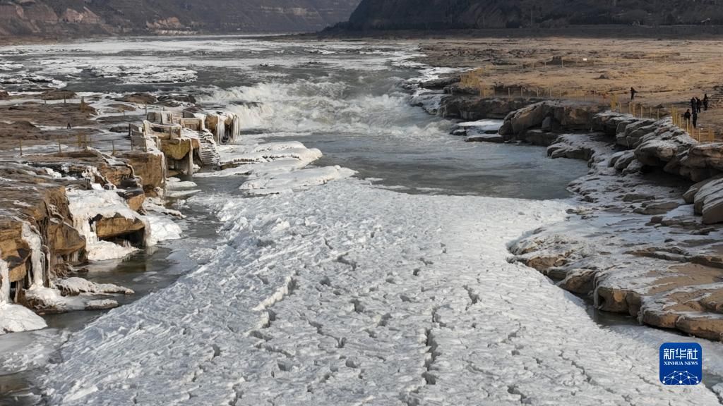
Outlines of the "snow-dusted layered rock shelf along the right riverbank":
{"label": "snow-dusted layered rock shelf along the right riverbank", "polygon": [[476,120],[453,130],[470,138],[469,126],[505,108],[498,137],[474,141],[542,145],[591,168],[570,183],[584,205],[513,243],[513,260],[599,310],[723,340],[723,143],[696,142],[669,118],[589,103],[460,94],[444,96],[437,113]]}

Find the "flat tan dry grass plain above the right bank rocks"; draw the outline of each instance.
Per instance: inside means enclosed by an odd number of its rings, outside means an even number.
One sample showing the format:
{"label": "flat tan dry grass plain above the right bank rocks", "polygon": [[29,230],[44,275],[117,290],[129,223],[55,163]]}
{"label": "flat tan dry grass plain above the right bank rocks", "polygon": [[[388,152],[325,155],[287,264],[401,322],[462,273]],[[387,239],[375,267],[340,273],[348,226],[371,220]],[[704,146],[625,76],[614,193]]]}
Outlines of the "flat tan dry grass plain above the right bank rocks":
{"label": "flat tan dry grass plain above the right bank rocks", "polygon": [[624,103],[635,87],[636,101],[666,111],[685,111],[691,97],[708,93],[713,108],[699,122],[723,130],[723,48],[716,40],[465,38],[424,40],[422,51],[435,66],[482,68],[489,87],[552,90],[573,98],[581,92],[617,94]]}

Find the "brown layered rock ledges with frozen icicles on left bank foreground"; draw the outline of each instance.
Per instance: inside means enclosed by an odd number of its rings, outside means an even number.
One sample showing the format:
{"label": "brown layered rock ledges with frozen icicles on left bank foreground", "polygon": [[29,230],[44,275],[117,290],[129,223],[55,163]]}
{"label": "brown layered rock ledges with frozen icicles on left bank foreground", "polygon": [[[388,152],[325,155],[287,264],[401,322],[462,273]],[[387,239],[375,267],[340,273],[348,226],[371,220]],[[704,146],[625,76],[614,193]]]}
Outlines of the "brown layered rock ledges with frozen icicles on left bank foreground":
{"label": "brown layered rock ledges with frozen icicles on left bank foreground", "polygon": [[[165,175],[163,154],[132,158],[149,184]],[[0,165],[0,319],[14,320],[0,334],[44,327],[14,303],[54,313],[111,308],[118,303],[98,295],[132,293],[67,277],[89,259],[125,256],[158,239],[150,238],[150,220],[141,214],[145,193],[129,161],[78,150]]]}

